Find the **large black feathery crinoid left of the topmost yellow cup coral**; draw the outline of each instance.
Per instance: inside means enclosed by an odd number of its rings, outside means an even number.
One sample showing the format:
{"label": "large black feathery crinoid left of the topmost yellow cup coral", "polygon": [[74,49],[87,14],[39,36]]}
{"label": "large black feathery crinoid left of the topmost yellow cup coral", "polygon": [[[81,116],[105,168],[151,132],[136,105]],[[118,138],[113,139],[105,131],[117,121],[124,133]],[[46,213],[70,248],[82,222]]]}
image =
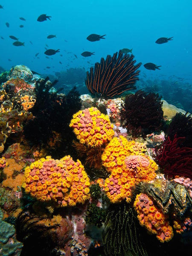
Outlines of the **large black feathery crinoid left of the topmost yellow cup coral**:
{"label": "large black feathery crinoid left of the topmost yellow cup coral", "polygon": [[54,90],[56,81],[52,84],[48,79],[40,79],[35,84],[33,119],[25,125],[24,135],[32,145],[47,148],[47,154],[58,158],[71,153],[71,139],[75,139],[75,135],[69,123],[81,108],[81,99],[76,87],[64,95]]}

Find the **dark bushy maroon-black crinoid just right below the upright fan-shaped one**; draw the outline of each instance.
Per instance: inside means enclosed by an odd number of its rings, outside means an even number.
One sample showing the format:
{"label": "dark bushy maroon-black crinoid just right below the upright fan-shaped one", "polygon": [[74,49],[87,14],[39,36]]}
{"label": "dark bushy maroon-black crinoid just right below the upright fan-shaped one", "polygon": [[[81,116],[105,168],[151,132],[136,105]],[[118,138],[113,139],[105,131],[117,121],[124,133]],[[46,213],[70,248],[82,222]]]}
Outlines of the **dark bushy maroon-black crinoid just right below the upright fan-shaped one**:
{"label": "dark bushy maroon-black crinoid just right below the upright fan-shaped one", "polygon": [[161,97],[158,93],[145,93],[139,90],[126,97],[125,110],[121,112],[121,120],[134,136],[145,137],[146,134],[158,132],[163,128],[161,107]]}

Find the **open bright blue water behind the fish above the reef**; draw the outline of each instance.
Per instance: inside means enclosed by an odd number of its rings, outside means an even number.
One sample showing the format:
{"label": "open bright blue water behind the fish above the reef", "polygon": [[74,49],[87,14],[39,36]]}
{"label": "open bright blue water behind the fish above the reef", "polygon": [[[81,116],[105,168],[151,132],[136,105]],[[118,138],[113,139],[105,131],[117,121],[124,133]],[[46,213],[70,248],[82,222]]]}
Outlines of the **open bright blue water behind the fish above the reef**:
{"label": "open bright blue water behind the fish above the reef", "polygon": [[[137,62],[162,66],[155,71],[142,66],[141,76],[168,78],[175,75],[192,79],[192,3],[189,0],[1,0],[0,4],[3,6],[0,36],[4,38],[0,38],[0,66],[6,70],[17,64],[47,74],[70,67],[88,70],[101,57],[113,55],[122,48],[133,48]],[[51,20],[38,22],[41,14],[51,16]],[[93,33],[106,34],[106,39],[87,41],[87,36]],[[47,39],[50,34],[57,38]],[[9,35],[25,42],[25,47],[13,46]],[[155,44],[160,37],[173,37],[173,41]],[[49,49],[60,49],[60,53],[51,56],[52,59],[45,58],[45,44]],[[95,52],[95,55],[82,57],[84,51]],[[35,58],[38,52],[39,58]],[[44,70],[47,66],[50,69]]]}

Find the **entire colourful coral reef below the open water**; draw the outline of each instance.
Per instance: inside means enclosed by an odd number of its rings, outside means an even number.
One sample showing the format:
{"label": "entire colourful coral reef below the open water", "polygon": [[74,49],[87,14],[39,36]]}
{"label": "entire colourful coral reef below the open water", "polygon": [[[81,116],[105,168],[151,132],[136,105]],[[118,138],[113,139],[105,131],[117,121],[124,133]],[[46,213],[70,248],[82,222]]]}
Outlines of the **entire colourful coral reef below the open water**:
{"label": "entire colourful coral reef below the open water", "polygon": [[192,116],[162,111],[160,84],[131,95],[133,58],[102,58],[87,86],[63,73],[94,98],[22,65],[0,75],[0,255],[190,254]]}

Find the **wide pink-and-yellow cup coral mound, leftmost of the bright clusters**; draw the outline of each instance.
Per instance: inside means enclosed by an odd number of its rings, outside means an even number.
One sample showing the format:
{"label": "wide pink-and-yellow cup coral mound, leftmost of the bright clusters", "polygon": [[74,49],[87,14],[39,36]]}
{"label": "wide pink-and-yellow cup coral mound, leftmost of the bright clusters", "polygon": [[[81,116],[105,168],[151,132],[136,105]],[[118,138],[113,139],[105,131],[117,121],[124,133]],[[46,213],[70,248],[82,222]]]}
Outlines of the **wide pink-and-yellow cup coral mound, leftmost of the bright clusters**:
{"label": "wide pink-and-yellow cup coral mound, leftmost of the bright clusters", "polygon": [[90,179],[79,160],[68,155],[61,160],[47,156],[25,169],[25,191],[40,201],[74,206],[90,198]]}

